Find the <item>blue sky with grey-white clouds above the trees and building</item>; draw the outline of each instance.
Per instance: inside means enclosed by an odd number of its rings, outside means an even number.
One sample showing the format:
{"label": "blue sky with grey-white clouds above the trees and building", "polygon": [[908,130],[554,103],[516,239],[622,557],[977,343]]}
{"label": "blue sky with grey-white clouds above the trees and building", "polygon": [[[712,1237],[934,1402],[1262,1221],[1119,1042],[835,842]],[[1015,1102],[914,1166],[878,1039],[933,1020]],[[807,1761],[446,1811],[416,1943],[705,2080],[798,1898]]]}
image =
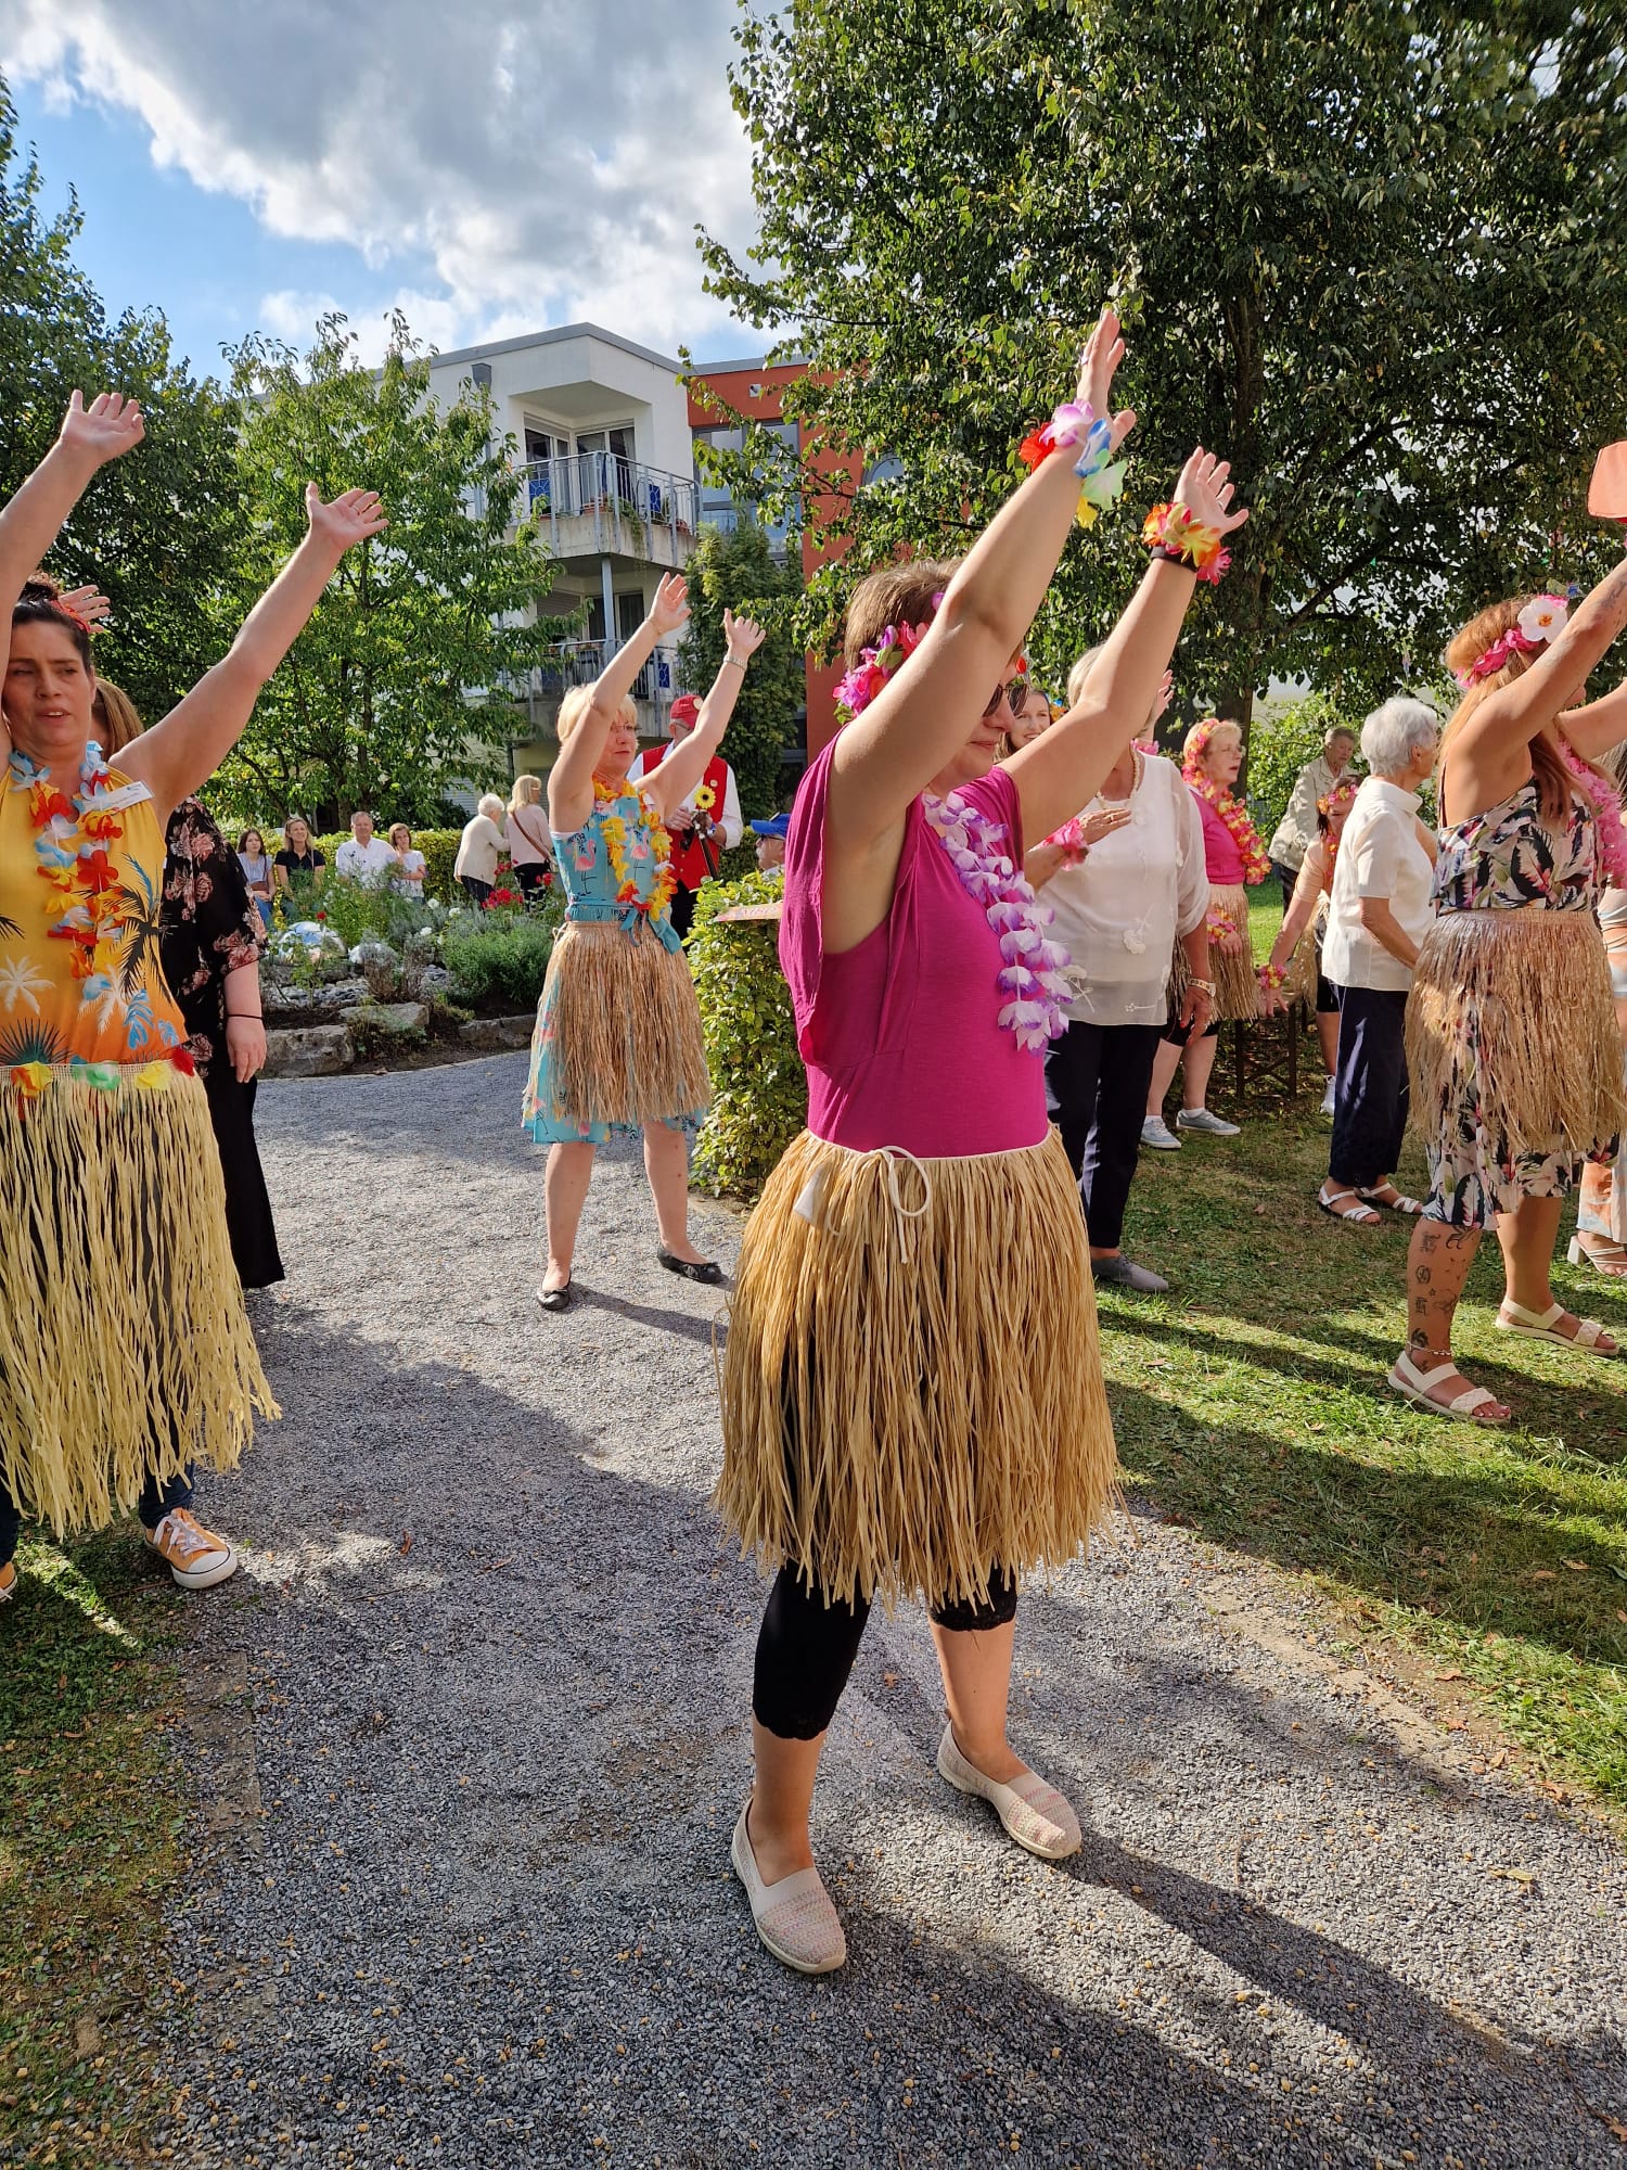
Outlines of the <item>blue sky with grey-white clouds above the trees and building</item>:
{"label": "blue sky with grey-white clouds above the trees and building", "polygon": [[694,224],[753,230],[733,0],[0,0],[0,67],[80,263],[195,367],[343,308],[438,347],[590,317],[753,352]]}

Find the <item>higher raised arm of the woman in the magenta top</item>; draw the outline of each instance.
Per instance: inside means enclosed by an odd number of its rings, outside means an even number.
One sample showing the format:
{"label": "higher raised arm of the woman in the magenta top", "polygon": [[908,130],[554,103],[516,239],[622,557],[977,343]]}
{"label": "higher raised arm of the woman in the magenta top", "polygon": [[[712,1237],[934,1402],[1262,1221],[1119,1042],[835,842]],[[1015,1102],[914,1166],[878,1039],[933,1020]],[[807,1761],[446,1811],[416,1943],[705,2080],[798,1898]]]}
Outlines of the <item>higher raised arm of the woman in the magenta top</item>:
{"label": "higher raised arm of the woman in the magenta top", "polygon": [[[1122,356],[1119,319],[1109,308],[1091,332],[1078,375],[1078,397],[1093,414],[1109,414]],[[1113,447],[1132,423],[1130,412],[1113,419]],[[1076,451],[1052,451],[1007,499],[944,590],[926,638],[842,731],[831,762],[827,851],[857,855],[892,846],[896,855],[909,803],[972,738],[989,694],[1011,675],[1074,527]],[[1143,701],[1141,716],[1145,712]],[[1046,829],[1067,820],[1089,796],[1080,792]]]}

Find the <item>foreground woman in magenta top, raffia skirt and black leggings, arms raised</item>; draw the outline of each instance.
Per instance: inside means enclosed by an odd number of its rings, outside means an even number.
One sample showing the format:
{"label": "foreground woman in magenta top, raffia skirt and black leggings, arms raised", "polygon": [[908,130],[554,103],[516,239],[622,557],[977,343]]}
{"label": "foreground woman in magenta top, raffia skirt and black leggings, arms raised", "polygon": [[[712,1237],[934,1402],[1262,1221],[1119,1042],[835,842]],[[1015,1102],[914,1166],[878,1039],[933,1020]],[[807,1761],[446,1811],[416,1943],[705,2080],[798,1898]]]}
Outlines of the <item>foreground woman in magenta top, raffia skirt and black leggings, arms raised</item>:
{"label": "foreground woman in magenta top, raffia skirt and black leggings, arms raised", "polygon": [[1080,703],[989,773],[1080,480],[1098,501],[1117,480],[1106,462],[1135,417],[1093,417],[1122,352],[1109,312],[1085,349],[1087,412],[1059,408],[1030,438],[1035,473],[963,564],[859,584],[840,694],[853,720],[814,762],[785,840],[781,961],[809,1126],[742,1246],[718,1499],[777,1569],[731,1858],[764,1944],[803,1973],[846,1955],[807,1818],[876,1595],[922,1591],[931,1608],[941,1775],[1030,1851],[1078,1847],[1067,1801],[1007,1743],[1017,1578],[1085,1545],[1115,1478],[1085,1224],[1046,1122],[1065,981],[1022,851],[1113,768],[1169,662],[1189,558],[1213,566],[1241,521],[1226,469],[1193,454],[1176,510],[1161,508],[1187,540],[1154,556]]}

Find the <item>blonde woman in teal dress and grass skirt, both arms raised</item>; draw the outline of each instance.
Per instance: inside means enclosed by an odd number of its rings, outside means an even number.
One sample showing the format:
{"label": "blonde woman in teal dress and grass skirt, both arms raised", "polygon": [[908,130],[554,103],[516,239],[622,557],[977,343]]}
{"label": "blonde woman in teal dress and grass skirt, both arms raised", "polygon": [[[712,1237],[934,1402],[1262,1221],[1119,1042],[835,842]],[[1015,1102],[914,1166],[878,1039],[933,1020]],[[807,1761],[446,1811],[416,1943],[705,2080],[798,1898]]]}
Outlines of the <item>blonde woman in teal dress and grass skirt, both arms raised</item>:
{"label": "blonde woman in teal dress and grass skirt, both arms raised", "polygon": [[521,1122],[549,1148],[545,1204],[549,1265],[545,1311],[571,1306],[577,1226],[594,1150],[612,1131],[644,1133],[655,1198],[657,1261],[688,1280],[716,1282],[714,1261],[690,1243],[690,1137],[709,1100],[701,1009],[668,903],[670,840],[664,816],[705,775],[733,714],[746,662],[764,631],[722,614],[727,653],[694,731],[642,777],[631,688],[657,640],[688,621],[672,575],[633,638],[592,686],[560,703],[560,760],[549,777],[549,829],[566,890],[566,922],[536,1009],[531,1072]]}

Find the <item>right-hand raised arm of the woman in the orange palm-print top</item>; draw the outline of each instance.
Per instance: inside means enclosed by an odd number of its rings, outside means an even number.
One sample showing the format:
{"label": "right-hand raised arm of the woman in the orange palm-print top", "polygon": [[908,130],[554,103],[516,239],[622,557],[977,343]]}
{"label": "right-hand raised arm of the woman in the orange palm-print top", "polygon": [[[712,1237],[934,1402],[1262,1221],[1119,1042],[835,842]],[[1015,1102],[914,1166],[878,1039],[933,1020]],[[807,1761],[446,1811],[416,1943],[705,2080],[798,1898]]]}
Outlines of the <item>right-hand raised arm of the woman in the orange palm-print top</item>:
{"label": "right-hand raised arm of the woman in the orange palm-print top", "polygon": [[247,614],[226,655],[163,723],[134,740],[119,764],[148,783],[165,809],[215,775],[243,736],[260,688],[304,631],[338,560],[386,525],[373,490],[345,490],[325,506],[315,482],[306,486],[306,516],[304,542]]}

